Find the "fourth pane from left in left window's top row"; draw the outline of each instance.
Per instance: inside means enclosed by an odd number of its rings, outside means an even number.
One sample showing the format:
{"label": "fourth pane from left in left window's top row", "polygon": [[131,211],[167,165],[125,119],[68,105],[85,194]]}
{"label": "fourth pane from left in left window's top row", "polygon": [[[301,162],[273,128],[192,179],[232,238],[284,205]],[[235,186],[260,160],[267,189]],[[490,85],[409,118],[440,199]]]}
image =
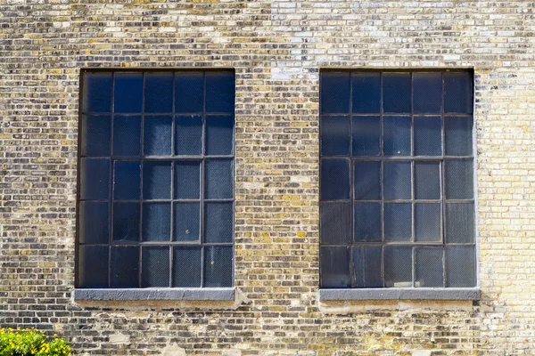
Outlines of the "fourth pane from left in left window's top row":
{"label": "fourth pane from left in left window's top row", "polygon": [[175,73],[175,112],[202,112],[204,105],[204,74]]}

